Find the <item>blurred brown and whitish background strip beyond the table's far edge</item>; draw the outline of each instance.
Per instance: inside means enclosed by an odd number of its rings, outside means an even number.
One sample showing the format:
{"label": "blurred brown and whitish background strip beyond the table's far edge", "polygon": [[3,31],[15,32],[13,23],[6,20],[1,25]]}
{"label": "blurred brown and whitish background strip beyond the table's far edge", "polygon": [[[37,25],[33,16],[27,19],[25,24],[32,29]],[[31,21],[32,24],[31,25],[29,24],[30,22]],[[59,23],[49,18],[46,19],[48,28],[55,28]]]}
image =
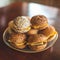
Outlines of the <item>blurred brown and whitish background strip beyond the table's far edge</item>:
{"label": "blurred brown and whitish background strip beyond the table's far edge", "polygon": [[49,5],[60,8],[60,0],[0,0],[0,7],[6,6],[13,2],[25,1],[25,2],[35,2],[43,5]]}

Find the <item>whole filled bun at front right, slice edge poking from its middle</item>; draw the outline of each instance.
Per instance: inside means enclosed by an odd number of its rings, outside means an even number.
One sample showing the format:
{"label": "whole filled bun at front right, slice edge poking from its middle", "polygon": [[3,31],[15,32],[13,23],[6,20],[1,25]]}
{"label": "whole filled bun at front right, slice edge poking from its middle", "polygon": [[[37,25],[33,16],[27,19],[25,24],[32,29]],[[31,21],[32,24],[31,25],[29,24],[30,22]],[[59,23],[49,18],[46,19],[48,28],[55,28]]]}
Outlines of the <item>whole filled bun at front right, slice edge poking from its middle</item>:
{"label": "whole filled bun at front right, slice edge poking from its middle", "polygon": [[43,34],[35,34],[28,38],[27,45],[31,50],[41,51],[47,46],[47,38]]}

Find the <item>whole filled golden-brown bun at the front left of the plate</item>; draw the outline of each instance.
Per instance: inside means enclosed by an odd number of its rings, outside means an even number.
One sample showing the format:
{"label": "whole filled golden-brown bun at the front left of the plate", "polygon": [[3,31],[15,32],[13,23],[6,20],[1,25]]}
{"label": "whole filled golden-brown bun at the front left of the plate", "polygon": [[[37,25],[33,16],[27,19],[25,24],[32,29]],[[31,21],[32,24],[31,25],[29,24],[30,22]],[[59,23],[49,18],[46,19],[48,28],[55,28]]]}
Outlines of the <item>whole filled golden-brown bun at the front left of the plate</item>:
{"label": "whole filled golden-brown bun at the front left of the plate", "polygon": [[23,49],[26,47],[26,35],[13,33],[9,37],[8,42],[16,48]]}

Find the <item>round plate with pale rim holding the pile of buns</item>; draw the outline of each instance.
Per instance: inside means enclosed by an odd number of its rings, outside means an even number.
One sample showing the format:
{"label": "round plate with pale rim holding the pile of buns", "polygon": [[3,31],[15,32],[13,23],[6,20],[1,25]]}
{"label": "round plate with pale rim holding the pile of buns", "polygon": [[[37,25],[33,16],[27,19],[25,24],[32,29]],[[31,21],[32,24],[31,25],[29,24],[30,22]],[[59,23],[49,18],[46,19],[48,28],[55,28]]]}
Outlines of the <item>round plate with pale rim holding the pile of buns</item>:
{"label": "round plate with pale rim holding the pile of buns", "polygon": [[48,42],[47,46],[41,50],[41,51],[33,51],[33,50],[30,50],[29,48],[24,48],[24,49],[18,49],[18,48],[15,48],[14,46],[12,46],[9,42],[8,42],[8,38],[9,38],[9,33],[8,33],[8,28],[4,31],[3,33],[3,41],[4,43],[9,46],[10,48],[14,49],[14,50],[17,50],[19,52],[25,52],[25,53],[37,53],[37,52],[42,52],[42,51],[45,51],[47,50],[48,48],[52,47],[54,45],[54,43],[56,42],[57,38],[58,38],[58,34],[56,34],[56,36],[53,38],[52,41]]}

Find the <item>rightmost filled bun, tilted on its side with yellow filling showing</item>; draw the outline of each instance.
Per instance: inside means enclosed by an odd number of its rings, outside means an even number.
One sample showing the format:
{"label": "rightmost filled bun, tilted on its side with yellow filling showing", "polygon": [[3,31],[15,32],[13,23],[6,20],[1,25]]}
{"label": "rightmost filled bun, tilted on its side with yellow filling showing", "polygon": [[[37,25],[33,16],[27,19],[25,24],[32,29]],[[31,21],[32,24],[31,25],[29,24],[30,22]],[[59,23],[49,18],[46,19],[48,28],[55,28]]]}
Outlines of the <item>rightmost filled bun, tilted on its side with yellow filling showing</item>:
{"label": "rightmost filled bun, tilted on its side with yellow filling showing", "polygon": [[44,30],[41,30],[40,33],[44,34],[48,38],[48,42],[53,40],[52,38],[55,38],[57,34],[55,28],[52,25],[49,25]]}

